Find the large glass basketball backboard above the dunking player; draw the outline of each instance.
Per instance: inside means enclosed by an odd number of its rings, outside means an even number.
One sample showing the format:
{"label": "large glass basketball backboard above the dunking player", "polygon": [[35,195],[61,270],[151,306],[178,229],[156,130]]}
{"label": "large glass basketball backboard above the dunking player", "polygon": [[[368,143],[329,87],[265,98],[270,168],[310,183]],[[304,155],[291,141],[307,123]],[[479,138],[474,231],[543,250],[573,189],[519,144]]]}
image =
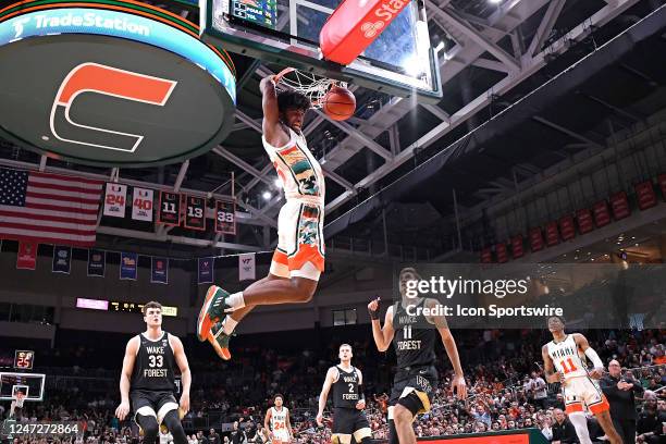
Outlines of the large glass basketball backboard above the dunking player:
{"label": "large glass basketball backboard above the dunking player", "polygon": [[442,98],[440,65],[421,0],[412,0],[349,65],[323,60],[319,49],[319,33],[338,3],[200,0],[201,37],[264,63],[293,66],[390,95],[416,96],[419,101],[433,103]]}

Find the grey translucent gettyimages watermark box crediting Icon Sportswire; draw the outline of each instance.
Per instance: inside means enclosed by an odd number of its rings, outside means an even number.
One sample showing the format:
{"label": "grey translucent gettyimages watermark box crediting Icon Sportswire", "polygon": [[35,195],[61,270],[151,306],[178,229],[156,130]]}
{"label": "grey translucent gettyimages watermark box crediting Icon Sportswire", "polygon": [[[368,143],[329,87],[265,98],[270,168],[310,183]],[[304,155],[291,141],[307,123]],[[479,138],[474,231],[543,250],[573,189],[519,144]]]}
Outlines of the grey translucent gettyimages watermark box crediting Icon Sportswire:
{"label": "grey translucent gettyimages watermark box crediting Icon Sportswire", "polygon": [[580,328],[657,328],[666,267],[402,264],[395,301],[407,316],[451,328],[543,329],[551,316]]}

